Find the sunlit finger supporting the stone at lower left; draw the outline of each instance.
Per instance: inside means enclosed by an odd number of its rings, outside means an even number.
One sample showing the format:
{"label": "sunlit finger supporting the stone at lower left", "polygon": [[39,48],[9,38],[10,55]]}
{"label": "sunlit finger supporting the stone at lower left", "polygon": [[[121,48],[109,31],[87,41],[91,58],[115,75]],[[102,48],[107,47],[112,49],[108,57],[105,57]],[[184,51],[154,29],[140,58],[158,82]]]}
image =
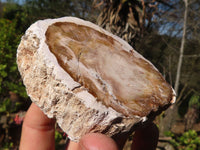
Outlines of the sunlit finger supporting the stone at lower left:
{"label": "sunlit finger supporting the stone at lower left", "polygon": [[25,116],[20,150],[55,149],[55,121],[49,119],[35,104],[31,104]]}

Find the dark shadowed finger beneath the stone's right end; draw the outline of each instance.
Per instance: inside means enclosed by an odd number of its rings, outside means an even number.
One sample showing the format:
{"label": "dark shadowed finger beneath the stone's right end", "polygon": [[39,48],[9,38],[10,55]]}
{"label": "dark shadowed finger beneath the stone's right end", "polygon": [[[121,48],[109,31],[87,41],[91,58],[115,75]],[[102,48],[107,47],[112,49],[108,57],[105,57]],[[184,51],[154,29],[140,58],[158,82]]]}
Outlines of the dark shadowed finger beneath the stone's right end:
{"label": "dark shadowed finger beneath the stone's right end", "polygon": [[155,150],[158,143],[159,131],[155,124],[137,130],[133,136],[132,150]]}

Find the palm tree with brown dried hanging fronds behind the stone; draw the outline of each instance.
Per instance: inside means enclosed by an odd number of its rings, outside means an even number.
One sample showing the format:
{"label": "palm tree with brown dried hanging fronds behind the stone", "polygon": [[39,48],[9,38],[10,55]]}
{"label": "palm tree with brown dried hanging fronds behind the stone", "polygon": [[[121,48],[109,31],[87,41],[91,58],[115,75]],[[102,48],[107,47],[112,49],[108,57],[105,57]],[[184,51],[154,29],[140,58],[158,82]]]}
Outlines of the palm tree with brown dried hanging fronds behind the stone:
{"label": "palm tree with brown dried hanging fronds behind the stone", "polygon": [[122,37],[134,46],[134,39],[141,37],[152,24],[158,4],[171,7],[167,0],[95,0],[101,13],[97,24]]}

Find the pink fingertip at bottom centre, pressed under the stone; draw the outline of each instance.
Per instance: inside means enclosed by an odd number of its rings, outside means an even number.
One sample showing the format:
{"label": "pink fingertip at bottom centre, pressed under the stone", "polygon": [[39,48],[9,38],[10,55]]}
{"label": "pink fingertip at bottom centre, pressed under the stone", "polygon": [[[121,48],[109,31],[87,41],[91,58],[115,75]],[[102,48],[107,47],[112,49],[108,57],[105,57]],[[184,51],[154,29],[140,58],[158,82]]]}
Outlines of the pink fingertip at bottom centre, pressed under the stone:
{"label": "pink fingertip at bottom centre, pressed under the stone", "polygon": [[79,150],[118,150],[118,148],[112,138],[100,133],[90,133],[81,138]]}

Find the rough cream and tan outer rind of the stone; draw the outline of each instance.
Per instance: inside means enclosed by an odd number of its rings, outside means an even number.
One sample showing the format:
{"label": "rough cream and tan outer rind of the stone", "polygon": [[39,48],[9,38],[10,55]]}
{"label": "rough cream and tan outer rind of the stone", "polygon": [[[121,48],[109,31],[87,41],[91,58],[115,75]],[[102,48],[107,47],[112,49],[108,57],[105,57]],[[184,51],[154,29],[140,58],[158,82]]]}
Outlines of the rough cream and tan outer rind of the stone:
{"label": "rough cream and tan outer rind of the stone", "polygon": [[[69,17],[59,21],[74,19],[77,20]],[[47,21],[46,27],[53,22],[56,20]],[[71,140],[78,141],[89,132],[101,132],[108,136],[128,132],[134,124],[145,119],[138,116],[128,118],[112,108],[106,108],[73,81],[48,51],[41,33],[45,32],[44,26],[40,31],[39,21],[26,31],[17,51],[18,68],[31,100],[49,118],[55,117]]]}

